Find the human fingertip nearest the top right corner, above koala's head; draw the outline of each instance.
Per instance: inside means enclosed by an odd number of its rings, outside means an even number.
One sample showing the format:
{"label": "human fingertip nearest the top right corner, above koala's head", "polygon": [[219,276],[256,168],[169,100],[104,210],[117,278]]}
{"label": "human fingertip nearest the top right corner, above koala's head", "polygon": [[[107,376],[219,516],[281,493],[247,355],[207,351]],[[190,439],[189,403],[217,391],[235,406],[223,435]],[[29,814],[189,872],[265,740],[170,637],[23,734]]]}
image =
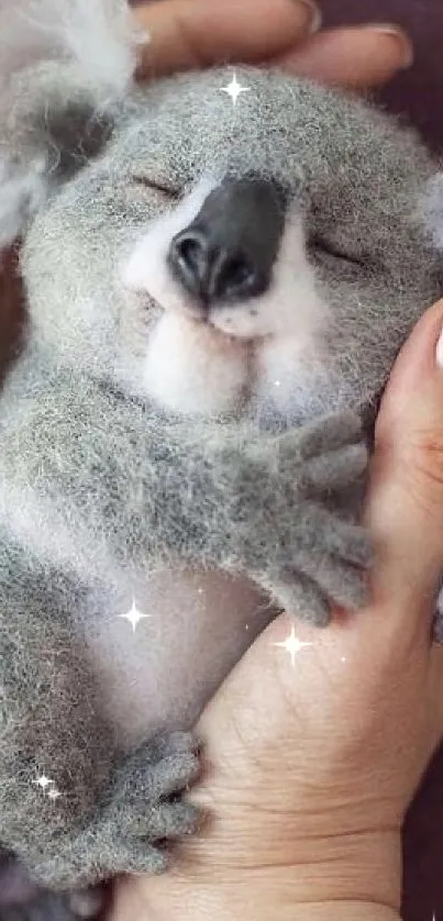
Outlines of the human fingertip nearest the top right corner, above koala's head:
{"label": "human fingertip nearest the top right corner, above koala's head", "polygon": [[320,32],[301,47],[278,55],[285,69],[329,86],[362,90],[388,82],[412,64],[408,36],[395,26]]}

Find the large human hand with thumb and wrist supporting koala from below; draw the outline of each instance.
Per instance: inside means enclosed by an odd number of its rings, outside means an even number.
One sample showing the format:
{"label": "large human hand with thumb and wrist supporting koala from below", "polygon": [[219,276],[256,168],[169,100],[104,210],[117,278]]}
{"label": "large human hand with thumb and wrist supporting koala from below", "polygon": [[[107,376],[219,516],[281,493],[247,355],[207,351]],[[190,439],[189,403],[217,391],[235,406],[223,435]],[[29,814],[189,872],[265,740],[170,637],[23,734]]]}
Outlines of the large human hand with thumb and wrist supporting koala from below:
{"label": "large human hand with thumb and wrist supporting koala from below", "polygon": [[[418,324],[387,388],[367,518],[370,608],[294,655],[277,619],[206,709],[213,821],[167,877],[118,887],[112,921],[398,918],[405,813],[443,735],[443,648],[430,631],[443,561],[443,301]],[[443,349],[442,349],[443,352]]]}

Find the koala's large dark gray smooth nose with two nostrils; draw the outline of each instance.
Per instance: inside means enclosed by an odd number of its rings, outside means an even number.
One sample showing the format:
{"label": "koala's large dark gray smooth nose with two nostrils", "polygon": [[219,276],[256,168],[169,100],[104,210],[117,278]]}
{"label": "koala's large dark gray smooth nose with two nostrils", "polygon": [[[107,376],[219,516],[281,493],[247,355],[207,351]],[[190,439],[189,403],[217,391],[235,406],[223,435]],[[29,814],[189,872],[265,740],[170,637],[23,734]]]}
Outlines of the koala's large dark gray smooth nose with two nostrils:
{"label": "koala's large dark gray smooth nose with two nostrils", "polygon": [[285,225],[285,193],[270,180],[225,179],[169,247],[168,265],[202,306],[233,303],[270,285]]}

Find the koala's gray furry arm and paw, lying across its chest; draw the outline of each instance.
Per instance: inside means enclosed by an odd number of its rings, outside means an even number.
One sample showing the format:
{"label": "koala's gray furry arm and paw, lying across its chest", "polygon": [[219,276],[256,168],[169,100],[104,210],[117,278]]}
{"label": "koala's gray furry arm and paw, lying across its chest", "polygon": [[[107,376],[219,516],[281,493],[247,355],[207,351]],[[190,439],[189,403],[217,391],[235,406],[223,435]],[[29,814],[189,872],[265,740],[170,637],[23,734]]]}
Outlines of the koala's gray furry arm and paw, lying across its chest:
{"label": "koala's gray furry arm and paw, lying across its chest", "polygon": [[246,575],[315,623],[331,600],[364,598],[369,541],[340,504],[367,465],[353,414],[270,435],[166,418],[58,374],[34,393],[7,455],[15,482],[33,482],[68,528],[106,535],[119,564]]}

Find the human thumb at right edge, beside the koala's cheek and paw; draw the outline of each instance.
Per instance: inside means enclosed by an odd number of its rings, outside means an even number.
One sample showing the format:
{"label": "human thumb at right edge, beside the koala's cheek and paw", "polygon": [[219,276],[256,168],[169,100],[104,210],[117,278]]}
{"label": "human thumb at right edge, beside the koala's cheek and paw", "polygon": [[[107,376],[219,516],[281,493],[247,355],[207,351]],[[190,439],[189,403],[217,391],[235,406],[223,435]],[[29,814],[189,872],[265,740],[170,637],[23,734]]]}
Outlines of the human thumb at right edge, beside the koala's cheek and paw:
{"label": "human thumb at right edge, beside the koala's cheek and paw", "polygon": [[[402,348],[376,425],[368,519],[378,547],[375,600],[431,618],[443,574],[443,301]],[[428,630],[429,620],[422,625]],[[423,632],[424,636],[424,632]]]}

